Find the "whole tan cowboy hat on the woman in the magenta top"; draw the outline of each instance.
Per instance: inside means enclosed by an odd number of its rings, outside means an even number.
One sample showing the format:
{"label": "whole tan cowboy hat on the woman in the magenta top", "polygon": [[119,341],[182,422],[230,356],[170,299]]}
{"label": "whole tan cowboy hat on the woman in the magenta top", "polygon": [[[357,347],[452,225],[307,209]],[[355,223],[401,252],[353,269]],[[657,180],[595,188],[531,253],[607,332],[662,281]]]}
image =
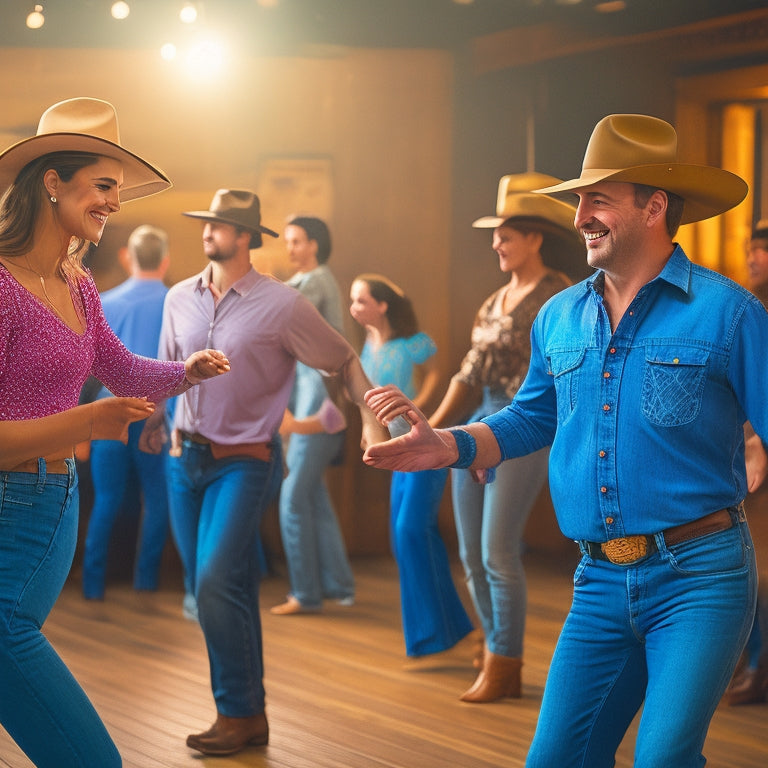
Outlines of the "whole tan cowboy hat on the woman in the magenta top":
{"label": "whole tan cowboy hat on the woman in the magenta top", "polygon": [[32,160],[51,152],[91,152],[122,163],[120,201],[154,195],[171,186],[157,167],[120,146],[115,108],[101,99],[60,101],[43,112],[37,134],[13,144],[0,154],[0,194]]}

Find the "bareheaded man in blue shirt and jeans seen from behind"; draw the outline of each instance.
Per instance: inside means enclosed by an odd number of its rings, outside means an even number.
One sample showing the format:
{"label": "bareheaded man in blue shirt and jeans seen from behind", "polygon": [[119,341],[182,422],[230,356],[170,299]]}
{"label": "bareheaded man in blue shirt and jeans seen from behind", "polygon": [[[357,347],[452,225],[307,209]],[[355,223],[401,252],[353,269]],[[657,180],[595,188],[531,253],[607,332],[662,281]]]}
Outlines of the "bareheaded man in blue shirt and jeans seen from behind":
{"label": "bareheaded man in blue shirt and jeans seen from behind", "polygon": [[[163,277],[168,269],[168,236],[157,227],[142,225],[131,232],[120,260],[130,277],[101,296],[104,316],[131,352],[157,357],[163,302],[168,292]],[[102,389],[98,397],[109,397]],[[158,586],[163,548],[168,538],[168,496],[165,455],[139,450],[143,423],[128,429],[128,444],[119,440],[94,440],[91,444],[91,478],[94,502],[83,554],[83,595],[104,597],[109,540],[123,507],[129,483],[138,480],[144,515],[137,546],[133,585],[138,590]],[[129,494],[130,495],[130,494]]]}

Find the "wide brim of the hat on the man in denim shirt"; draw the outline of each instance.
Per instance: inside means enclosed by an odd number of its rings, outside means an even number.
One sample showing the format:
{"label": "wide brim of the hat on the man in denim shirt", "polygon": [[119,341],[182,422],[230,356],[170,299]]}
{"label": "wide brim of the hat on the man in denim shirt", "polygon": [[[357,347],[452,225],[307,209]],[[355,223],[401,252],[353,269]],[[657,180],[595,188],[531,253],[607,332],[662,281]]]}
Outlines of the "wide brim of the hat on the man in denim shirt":
{"label": "wide brim of the hat on the man in denim shirt", "polygon": [[722,168],[683,163],[659,163],[622,169],[590,168],[583,170],[578,179],[536,189],[534,192],[548,195],[557,192],[573,192],[600,181],[645,184],[679,195],[685,201],[681,224],[692,224],[712,216],[719,216],[737,206],[749,191],[744,179]]}

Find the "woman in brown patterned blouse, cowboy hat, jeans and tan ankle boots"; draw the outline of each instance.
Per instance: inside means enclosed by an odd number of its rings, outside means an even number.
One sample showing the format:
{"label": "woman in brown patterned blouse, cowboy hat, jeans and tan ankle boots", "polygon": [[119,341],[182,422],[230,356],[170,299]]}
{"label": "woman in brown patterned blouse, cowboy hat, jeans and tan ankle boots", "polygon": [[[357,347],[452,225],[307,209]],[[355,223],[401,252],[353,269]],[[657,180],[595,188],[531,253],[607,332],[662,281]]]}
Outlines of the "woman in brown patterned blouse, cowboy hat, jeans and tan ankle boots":
{"label": "woman in brown patterned blouse, cowboy hat, jeans and tan ankle boots", "polygon": [[[472,348],[430,419],[434,426],[477,421],[515,396],[530,359],[531,323],[541,305],[570,284],[560,270],[583,272],[584,244],[573,228],[572,205],[530,190],[559,181],[520,173],[499,182],[496,215],[472,226],[493,229],[493,250],[507,284],[480,308]],[[482,404],[472,411],[472,405]],[[452,473],[453,509],[464,571],[485,635],[478,647],[475,684],[461,699],[494,701],[520,696],[526,586],[521,540],[531,506],[544,483],[544,448],[508,462],[487,485],[467,470]]]}

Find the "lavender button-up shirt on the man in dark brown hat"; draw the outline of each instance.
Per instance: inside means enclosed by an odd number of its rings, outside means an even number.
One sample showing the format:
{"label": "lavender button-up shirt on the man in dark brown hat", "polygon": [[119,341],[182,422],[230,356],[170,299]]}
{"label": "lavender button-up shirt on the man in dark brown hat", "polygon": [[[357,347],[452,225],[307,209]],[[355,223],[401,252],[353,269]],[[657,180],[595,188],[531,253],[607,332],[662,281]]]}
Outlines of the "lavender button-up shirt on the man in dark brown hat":
{"label": "lavender button-up shirt on the man in dark brown hat", "polygon": [[218,303],[210,280],[209,265],[168,292],[158,356],[184,360],[215,348],[232,370],[181,395],[174,427],[224,445],[268,441],[288,404],[296,361],[335,373],[354,351],[310,301],[271,277],[252,269]]}

